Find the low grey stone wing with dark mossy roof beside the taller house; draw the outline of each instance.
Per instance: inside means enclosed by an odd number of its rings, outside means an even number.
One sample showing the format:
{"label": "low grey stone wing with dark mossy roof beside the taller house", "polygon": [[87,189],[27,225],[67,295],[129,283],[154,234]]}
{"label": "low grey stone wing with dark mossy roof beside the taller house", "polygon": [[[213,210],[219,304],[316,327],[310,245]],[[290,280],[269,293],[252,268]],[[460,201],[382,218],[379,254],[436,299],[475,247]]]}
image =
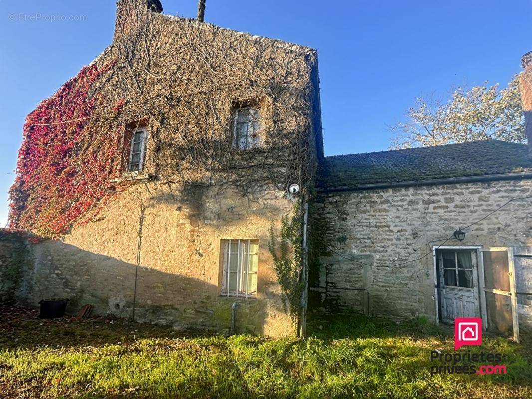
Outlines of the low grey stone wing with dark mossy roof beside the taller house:
{"label": "low grey stone wing with dark mossy roof beside the taller house", "polygon": [[[511,330],[511,296],[484,296],[482,273],[486,288],[510,292],[506,250],[494,253],[502,262],[496,272],[484,264],[490,248],[513,248],[517,292],[532,292],[528,151],[484,140],[325,157],[315,209],[327,247],[311,271],[311,306],[436,322],[485,312],[489,325]],[[515,197],[528,198],[491,214]],[[453,236],[459,228],[461,242]],[[518,296],[529,327],[531,300]]]}

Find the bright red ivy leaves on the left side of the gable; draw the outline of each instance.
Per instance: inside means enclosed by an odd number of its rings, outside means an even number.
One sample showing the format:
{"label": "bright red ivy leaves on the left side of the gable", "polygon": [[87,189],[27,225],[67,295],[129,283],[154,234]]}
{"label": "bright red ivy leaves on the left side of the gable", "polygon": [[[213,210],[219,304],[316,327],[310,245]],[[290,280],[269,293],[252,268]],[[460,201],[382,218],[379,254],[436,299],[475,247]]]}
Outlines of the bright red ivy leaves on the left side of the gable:
{"label": "bright red ivy leaves on the left side of the gable", "polygon": [[11,229],[58,237],[113,195],[122,131],[89,127],[103,103],[89,89],[112,65],[86,66],[26,118],[10,189]]}

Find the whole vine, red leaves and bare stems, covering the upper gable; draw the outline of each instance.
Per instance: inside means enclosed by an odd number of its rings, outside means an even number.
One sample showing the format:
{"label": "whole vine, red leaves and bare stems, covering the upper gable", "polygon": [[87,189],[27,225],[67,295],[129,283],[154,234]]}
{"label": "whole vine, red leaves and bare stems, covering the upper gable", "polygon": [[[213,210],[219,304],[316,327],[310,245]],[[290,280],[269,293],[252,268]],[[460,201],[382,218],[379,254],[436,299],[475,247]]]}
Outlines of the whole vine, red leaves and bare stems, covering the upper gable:
{"label": "whole vine, red leaves and bare stems, covering the upper gable", "polygon": [[[143,174],[172,196],[218,184],[248,197],[294,182],[305,190],[315,63],[309,48],[120,0],[112,45],[28,115],[10,227],[60,237],[141,184],[124,178],[126,131],[141,124],[148,129]],[[263,145],[238,151],[232,118],[249,104],[260,109]],[[147,202],[159,200],[148,194]]]}

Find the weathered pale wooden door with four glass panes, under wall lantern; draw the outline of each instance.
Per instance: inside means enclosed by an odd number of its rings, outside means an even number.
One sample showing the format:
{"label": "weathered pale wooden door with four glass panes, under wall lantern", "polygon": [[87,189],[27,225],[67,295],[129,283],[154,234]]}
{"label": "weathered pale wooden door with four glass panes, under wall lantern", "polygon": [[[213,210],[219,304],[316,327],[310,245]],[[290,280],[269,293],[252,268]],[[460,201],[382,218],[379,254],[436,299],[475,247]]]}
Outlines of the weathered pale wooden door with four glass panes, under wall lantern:
{"label": "weathered pale wooden door with four glass panes, under wall lantern", "polygon": [[480,317],[476,251],[439,250],[438,262],[442,321]]}

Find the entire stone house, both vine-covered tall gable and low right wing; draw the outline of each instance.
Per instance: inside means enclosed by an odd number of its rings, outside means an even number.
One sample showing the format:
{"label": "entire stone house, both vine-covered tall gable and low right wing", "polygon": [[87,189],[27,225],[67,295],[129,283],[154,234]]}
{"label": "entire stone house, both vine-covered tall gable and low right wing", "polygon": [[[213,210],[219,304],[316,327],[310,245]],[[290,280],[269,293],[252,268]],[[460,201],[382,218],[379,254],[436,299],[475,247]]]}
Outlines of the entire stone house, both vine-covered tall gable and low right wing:
{"label": "entire stone house, both vine-covered tall gable and low right wing", "polygon": [[325,157],[315,50],[117,5],[112,45],[28,117],[10,221],[43,239],[0,234],[3,297],[277,336],[307,307],[532,326],[529,147]]}

